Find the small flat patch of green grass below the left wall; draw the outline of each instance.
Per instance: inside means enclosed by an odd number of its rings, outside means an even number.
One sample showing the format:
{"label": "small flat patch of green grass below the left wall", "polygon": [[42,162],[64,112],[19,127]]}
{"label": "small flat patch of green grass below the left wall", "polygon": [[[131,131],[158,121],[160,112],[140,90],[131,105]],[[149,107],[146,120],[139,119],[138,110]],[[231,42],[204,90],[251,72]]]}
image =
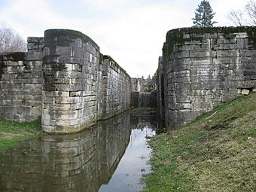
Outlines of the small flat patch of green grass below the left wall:
{"label": "small flat patch of green grass below the left wall", "polygon": [[41,121],[16,123],[9,120],[0,120],[0,151],[13,148],[19,142],[37,137],[41,134]]}

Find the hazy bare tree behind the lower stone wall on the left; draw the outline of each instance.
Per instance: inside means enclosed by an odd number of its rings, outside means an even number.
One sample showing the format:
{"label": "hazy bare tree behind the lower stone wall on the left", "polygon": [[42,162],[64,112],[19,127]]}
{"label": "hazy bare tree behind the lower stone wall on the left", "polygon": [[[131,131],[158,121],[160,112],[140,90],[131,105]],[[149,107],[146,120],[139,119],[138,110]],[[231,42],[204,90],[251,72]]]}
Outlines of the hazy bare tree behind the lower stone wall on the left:
{"label": "hazy bare tree behind the lower stone wall on the left", "polygon": [[26,41],[5,23],[0,23],[0,52],[26,51]]}

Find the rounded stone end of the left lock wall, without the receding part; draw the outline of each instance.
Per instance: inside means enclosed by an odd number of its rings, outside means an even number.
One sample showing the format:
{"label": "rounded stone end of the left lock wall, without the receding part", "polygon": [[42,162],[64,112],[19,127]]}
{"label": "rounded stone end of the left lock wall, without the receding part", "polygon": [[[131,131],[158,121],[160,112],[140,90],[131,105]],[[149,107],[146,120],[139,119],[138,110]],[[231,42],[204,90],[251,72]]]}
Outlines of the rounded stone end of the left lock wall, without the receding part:
{"label": "rounded stone end of the left lock wall, without the receding part", "polygon": [[81,32],[44,33],[42,129],[76,132],[97,120],[99,46]]}

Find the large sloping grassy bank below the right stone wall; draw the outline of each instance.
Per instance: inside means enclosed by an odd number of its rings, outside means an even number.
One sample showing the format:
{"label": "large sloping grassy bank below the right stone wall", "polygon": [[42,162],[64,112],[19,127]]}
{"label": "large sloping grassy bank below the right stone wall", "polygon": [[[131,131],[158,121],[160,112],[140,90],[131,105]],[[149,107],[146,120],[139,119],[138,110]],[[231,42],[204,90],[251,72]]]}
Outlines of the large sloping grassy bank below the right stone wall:
{"label": "large sloping grassy bank below the right stone wall", "polygon": [[255,191],[256,94],[241,96],[150,142],[145,191]]}

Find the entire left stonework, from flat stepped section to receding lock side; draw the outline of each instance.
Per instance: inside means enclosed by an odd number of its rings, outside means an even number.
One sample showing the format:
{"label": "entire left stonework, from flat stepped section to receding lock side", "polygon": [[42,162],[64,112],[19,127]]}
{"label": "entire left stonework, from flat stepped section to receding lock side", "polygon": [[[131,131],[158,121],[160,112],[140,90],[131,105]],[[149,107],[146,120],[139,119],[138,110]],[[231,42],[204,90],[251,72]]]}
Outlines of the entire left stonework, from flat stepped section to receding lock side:
{"label": "entire left stonework, from flat stepped section to receding lock side", "polygon": [[28,38],[28,53],[1,56],[0,117],[41,116],[44,132],[73,133],[130,108],[130,76],[110,58],[77,31]]}

